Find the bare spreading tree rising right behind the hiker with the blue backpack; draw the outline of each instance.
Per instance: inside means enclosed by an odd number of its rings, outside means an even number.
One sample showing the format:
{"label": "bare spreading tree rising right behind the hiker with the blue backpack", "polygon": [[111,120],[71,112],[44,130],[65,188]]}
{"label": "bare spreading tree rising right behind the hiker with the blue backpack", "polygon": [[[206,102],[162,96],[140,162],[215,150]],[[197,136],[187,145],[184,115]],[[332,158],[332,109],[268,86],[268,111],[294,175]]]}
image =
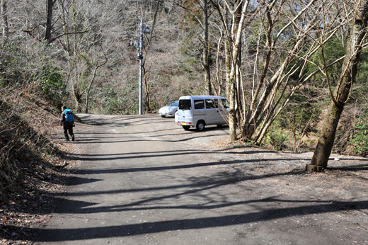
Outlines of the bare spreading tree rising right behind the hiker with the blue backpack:
{"label": "bare spreading tree rising right behind the hiker with the blue backpack", "polygon": [[[97,69],[106,63],[107,57],[103,50],[98,55],[102,35],[95,16],[97,12],[91,11],[91,6],[86,8],[86,3],[82,8],[76,0],[58,1],[57,4],[63,23],[63,33],[60,35],[63,39],[59,43],[64,47],[69,68],[66,78],[71,84],[76,112],[80,113],[83,100],[88,106],[88,96],[96,79]],[[100,56],[103,57],[103,62],[98,62]]]}

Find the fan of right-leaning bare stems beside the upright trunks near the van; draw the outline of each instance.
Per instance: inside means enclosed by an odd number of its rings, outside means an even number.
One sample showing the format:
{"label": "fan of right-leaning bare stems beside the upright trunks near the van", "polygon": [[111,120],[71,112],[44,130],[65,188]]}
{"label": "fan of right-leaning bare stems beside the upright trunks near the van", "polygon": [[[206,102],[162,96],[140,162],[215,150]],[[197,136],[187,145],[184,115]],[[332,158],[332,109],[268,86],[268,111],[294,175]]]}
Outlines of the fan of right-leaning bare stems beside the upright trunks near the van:
{"label": "fan of right-leaning bare stems beside the upright trunks near the van", "polygon": [[[299,53],[302,50],[302,47],[308,47],[310,44],[307,42],[309,38],[309,34],[312,30],[314,30],[314,25],[316,23],[316,16],[318,14],[313,15],[309,19],[301,19],[304,17],[304,13],[306,11],[311,12],[311,6],[315,3],[315,0],[309,1],[308,4],[303,6],[299,5],[300,11],[296,11],[294,16],[289,16],[289,13],[285,12],[284,6],[282,6],[282,2],[277,5],[277,1],[272,1],[272,4],[265,4],[264,14],[262,14],[260,18],[263,18],[264,21],[261,23],[261,26],[265,28],[265,45],[266,45],[266,54],[263,64],[263,69],[258,76],[258,81],[253,81],[253,89],[251,95],[251,105],[249,106],[247,112],[244,111],[245,119],[243,124],[243,137],[246,139],[251,139],[251,137],[255,134],[255,129],[263,123],[263,126],[260,128],[260,135],[255,137],[255,142],[260,142],[260,140],[265,135],[267,128],[270,123],[275,119],[275,115],[277,115],[277,106],[280,104],[280,99],[285,98],[283,94],[289,91],[289,95],[286,96],[286,100],[284,102],[287,103],[288,99],[295,90],[300,86],[298,83],[294,83],[291,86],[291,89],[287,89],[290,85],[290,77],[295,74],[295,72],[299,71],[299,74],[302,74],[303,67],[305,67],[305,60],[312,54],[312,52],[308,52],[305,57],[302,57],[301,64],[292,64],[295,58],[299,57]],[[315,11],[315,8],[313,8]],[[272,15],[272,12],[274,13]],[[285,21],[283,28],[275,33],[275,25],[277,23],[277,19],[281,16],[287,17],[283,18]],[[299,27],[298,25],[301,25]],[[294,28],[294,30],[293,30]],[[282,36],[286,35],[286,33],[292,31],[293,35],[290,37],[292,43],[287,43],[288,40],[284,40]],[[260,43],[258,43],[258,46]],[[280,49],[282,45],[283,49]],[[313,47],[313,45],[311,45]],[[286,48],[286,50],[285,50]],[[259,50],[259,49],[258,49]],[[286,52],[279,53],[278,50],[285,50]],[[316,51],[315,49],[311,49],[311,51]],[[282,60],[280,60],[280,55],[284,56]],[[280,62],[277,61],[280,60]],[[270,71],[270,63],[277,62],[279,64],[278,67],[275,67],[275,72],[272,75],[269,75]],[[292,65],[293,67],[290,67]],[[268,78],[268,76],[270,76]],[[304,80],[305,81],[305,80]],[[284,85],[282,85],[284,84]],[[278,97],[278,99],[277,99]],[[286,105],[286,103],[282,103],[282,105]],[[284,107],[279,108],[280,110]],[[273,118],[273,119],[272,119]],[[259,140],[260,139],[260,140]]]}

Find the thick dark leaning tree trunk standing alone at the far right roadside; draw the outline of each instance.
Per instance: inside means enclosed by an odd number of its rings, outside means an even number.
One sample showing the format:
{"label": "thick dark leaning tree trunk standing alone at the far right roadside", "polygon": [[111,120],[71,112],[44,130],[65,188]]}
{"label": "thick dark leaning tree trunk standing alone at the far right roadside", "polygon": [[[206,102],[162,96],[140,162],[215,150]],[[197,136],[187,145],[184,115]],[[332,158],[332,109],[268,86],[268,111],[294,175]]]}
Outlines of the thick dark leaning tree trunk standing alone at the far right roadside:
{"label": "thick dark leaning tree trunk standing alone at the far right roadside", "polygon": [[[326,169],[328,158],[330,157],[333,142],[335,141],[336,128],[347,102],[352,84],[357,75],[357,65],[360,60],[362,41],[365,38],[368,19],[368,0],[360,1],[360,10],[357,11],[354,25],[350,31],[350,39],[347,43],[347,50],[343,62],[342,72],[338,86],[332,94],[332,101],[328,107],[328,113],[323,121],[322,135],[318,139],[318,144],[311,159],[311,164],[321,166]],[[326,74],[327,76],[327,74]]]}

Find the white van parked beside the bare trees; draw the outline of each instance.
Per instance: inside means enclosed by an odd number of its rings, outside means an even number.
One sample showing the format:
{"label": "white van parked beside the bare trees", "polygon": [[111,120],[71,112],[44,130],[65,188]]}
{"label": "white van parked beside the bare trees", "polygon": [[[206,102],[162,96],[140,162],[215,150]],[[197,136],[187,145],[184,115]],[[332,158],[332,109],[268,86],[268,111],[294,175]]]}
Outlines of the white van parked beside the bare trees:
{"label": "white van parked beside the bare trees", "polygon": [[176,123],[184,130],[195,127],[201,131],[207,125],[224,125],[229,115],[226,98],[219,96],[182,96],[179,98]]}

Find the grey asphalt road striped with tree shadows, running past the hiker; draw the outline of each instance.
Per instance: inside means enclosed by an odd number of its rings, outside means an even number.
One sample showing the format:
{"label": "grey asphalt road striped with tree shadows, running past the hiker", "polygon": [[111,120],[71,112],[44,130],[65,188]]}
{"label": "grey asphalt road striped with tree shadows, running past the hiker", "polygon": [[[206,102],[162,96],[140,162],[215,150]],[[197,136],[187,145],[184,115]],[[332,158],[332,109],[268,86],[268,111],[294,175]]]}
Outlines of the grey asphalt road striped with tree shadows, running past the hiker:
{"label": "grey asphalt road striped with tree shadows, running past the hiker", "polygon": [[308,201],[286,206],[282,190],[272,199],[258,178],[228,169],[231,152],[211,146],[227,127],[184,131],[159,115],[79,117],[85,124],[66,143],[75,147],[74,181],[35,244],[354,244],[332,221],[322,231],[326,222],[317,225]]}

